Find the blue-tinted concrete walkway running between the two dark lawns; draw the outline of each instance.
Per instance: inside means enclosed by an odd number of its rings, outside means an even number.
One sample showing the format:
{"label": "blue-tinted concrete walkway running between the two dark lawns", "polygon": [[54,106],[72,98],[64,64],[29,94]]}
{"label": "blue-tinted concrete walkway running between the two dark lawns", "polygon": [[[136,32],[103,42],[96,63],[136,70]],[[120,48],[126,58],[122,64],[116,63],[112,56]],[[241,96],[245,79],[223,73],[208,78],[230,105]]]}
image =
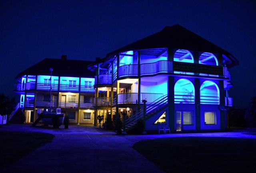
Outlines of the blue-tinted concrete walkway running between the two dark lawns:
{"label": "blue-tinted concrete walkway running between the two dark lawns", "polygon": [[52,143],[36,149],[4,170],[8,173],[160,173],[158,167],[132,149],[134,143],[186,136],[256,139],[255,135],[244,132],[117,136],[113,132],[86,126],[54,130],[9,125],[0,130],[45,132],[55,136]]}

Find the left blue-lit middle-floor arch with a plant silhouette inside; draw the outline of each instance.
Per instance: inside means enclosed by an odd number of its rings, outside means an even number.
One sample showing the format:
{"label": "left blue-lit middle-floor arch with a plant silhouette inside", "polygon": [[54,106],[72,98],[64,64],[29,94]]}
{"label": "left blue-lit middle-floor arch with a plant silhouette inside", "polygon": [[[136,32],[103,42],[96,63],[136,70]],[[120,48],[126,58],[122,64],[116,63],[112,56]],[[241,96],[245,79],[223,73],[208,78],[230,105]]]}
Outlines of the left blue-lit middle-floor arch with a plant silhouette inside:
{"label": "left blue-lit middle-floor arch with a plant silhouette inside", "polygon": [[194,104],[195,88],[188,79],[179,79],[174,85],[174,103]]}

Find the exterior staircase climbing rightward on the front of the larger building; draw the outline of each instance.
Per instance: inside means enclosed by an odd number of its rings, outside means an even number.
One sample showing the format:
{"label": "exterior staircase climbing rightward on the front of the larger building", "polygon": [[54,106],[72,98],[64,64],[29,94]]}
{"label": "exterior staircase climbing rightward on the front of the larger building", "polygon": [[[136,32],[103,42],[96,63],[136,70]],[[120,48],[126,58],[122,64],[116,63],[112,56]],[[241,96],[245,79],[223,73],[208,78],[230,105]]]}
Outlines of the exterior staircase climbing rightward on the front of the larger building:
{"label": "exterior staircase climbing rightward on the front of the larger building", "polygon": [[[146,119],[154,116],[158,112],[162,111],[164,108],[168,106],[168,95],[164,95],[156,100],[154,102],[151,102],[150,104],[146,104]],[[126,132],[129,130],[132,130],[134,126],[138,123],[138,121],[143,119],[143,106],[140,110],[138,110],[135,114],[128,115],[128,118],[126,118]]]}

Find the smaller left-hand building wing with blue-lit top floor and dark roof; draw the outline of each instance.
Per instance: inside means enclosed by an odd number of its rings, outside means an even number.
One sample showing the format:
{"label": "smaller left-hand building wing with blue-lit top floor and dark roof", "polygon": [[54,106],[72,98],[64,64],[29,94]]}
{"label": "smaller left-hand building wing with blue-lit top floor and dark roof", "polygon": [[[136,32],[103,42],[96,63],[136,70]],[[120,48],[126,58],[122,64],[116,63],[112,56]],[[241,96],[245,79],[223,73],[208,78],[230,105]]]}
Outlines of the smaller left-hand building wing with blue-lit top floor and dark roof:
{"label": "smaller left-hand building wing with blue-lit top floor and dark roof", "polygon": [[51,106],[62,108],[72,124],[92,124],[94,73],[86,68],[91,63],[68,60],[64,55],[61,59],[44,59],[18,74],[15,92],[20,95],[25,122],[34,122],[43,108]]}

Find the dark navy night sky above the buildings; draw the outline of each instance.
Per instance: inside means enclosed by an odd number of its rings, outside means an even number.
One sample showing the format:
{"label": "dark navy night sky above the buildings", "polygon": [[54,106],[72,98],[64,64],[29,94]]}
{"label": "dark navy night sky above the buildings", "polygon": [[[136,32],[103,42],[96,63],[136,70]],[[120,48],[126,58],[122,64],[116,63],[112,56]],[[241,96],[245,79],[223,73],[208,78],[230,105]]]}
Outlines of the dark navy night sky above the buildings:
{"label": "dark navy night sky above the buildings", "polygon": [[253,0],[0,0],[0,92],[14,96],[15,76],[46,57],[94,60],[174,24],[240,61],[230,95],[246,106],[256,96]]}

